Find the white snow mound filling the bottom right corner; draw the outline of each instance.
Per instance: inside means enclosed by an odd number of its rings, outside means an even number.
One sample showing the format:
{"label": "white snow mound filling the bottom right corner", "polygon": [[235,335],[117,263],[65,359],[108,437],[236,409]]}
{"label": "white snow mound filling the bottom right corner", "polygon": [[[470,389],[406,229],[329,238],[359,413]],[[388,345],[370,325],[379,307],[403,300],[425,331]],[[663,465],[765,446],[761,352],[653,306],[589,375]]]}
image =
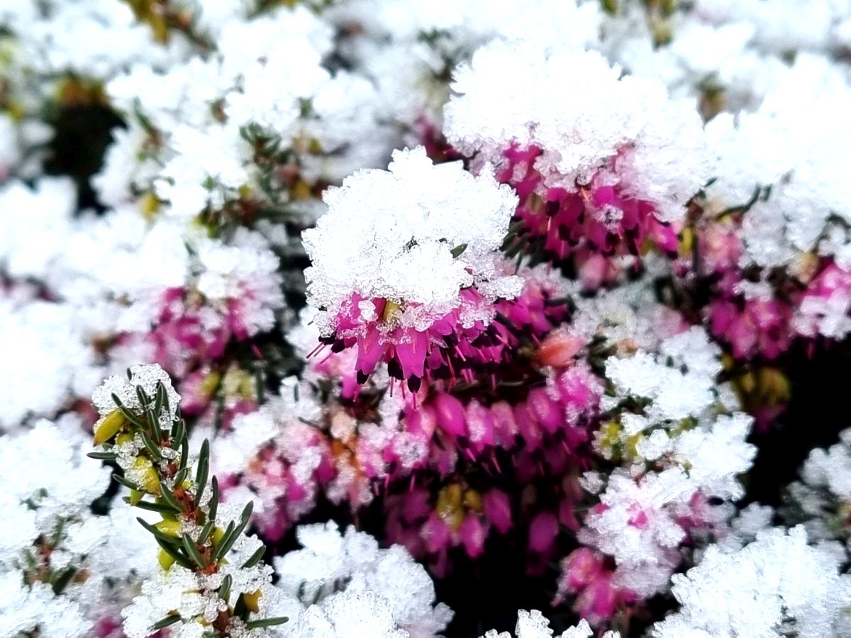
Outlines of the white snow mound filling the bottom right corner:
{"label": "white snow mound filling the bottom right corner", "polygon": [[710,547],[700,565],[671,578],[683,607],[653,635],[848,635],[851,578],[839,565],[836,552],[807,544],[802,527],[757,533],[732,554]]}

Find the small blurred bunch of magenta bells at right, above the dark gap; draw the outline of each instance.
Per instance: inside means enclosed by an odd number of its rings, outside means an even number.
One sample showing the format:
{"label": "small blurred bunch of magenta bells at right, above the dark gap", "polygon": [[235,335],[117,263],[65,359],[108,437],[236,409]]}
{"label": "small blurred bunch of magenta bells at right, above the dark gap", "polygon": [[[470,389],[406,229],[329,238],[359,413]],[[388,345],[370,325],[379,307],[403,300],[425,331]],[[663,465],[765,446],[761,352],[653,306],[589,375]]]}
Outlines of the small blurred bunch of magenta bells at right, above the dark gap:
{"label": "small blurred bunch of magenta bells at right, above the dark gap", "polygon": [[776,359],[791,345],[792,309],[780,299],[717,299],[709,307],[710,330],[738,359]]}

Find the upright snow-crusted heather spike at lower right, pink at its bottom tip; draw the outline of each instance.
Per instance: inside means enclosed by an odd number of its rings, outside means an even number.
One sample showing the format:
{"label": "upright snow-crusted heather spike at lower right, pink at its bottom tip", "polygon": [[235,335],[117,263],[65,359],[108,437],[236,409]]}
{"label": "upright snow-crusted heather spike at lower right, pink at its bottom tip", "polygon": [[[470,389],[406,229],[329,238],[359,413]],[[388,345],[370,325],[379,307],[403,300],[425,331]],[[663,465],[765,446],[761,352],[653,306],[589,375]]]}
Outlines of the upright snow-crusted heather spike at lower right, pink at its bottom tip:
{"label": "upright snow-crusted heather spike at lower right, pink at its bottom tip", "polygon": [[[659,350],[659,360],[638,350],[606,362],[614,391],[604,398],[608,414],[594,444],[622,467],[585,476],[598,501],[577,539],[593,551],[563,561],[559,594],[578,594],[580,613],[597,622],[619,601],[663,590],[683,561],[683,544],[723,533],[729,509],[710,499],[741,497],[737,477],[756,452],[745,442],[751,418],[725,414],[715,381],[719,352],[705,333],[692,328]],[[604,556],[614,559],[614,571]]]}

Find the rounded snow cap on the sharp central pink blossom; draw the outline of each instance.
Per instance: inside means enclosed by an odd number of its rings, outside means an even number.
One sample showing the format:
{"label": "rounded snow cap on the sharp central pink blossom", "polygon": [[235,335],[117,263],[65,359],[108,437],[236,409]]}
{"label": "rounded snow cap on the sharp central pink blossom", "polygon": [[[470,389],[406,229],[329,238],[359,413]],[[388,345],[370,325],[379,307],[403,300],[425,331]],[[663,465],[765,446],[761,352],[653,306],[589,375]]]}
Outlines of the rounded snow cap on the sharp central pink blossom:
{"label": "rounded snow cap on the sharp central pink blossom", "polygon": [[494,265],[517,198],[490,174],[433,165],[420,147],[394,151],[389,171],[359,171],[324,198],[328,213],[303,238],[308,300],[325,334],[353,294],[415,303],[433,319],[459,307],[462,288],[490,299],[520,291]]}

